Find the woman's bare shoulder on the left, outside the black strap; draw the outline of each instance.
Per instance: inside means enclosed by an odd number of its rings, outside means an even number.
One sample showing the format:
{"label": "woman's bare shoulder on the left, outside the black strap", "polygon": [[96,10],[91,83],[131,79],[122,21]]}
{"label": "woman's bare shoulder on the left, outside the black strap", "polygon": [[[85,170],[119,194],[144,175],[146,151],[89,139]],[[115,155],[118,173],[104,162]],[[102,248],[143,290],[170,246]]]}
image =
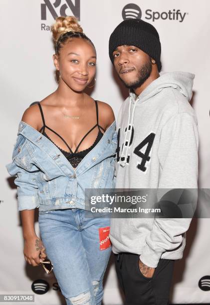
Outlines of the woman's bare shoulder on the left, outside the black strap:
{"label": "woman's bare shoulder on the left, outside the black strap", "polygon": [[33,105],[29,106],[24,111],[21,121],[30,125],[34,129],[39,130],[42,119],[41,119],[41,114],[40,114],[38,104],[33,104]]}

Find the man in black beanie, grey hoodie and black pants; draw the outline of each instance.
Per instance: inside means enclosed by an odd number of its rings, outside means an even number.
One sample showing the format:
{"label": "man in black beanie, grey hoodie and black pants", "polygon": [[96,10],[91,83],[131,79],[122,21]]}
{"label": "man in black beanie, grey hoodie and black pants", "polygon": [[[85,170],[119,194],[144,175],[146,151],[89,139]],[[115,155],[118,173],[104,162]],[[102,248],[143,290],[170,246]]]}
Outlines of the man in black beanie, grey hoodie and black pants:
{"label": "man in black beanie, grey hoodie and black pants", "polygon": [[[141,19],[125,20],[115,28],[109,56],[130,89],[117,123],[116,188],[197,188],[198,129],[189,104],[194,75],[160,73],[159,34]],[[111,220],[110,239],[126,304],[168,304],[174,260],[183,256],[190,222]]]}

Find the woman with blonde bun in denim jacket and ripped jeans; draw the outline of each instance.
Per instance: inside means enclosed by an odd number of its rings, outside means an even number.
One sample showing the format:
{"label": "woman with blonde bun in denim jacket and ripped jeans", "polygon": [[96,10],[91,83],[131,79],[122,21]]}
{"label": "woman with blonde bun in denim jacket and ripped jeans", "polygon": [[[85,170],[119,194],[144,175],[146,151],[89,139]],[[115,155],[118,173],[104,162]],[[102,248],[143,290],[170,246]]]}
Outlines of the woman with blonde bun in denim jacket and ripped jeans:
{"label": "woman with blonde bun in denim jacket and ripped jeans", "polygon": [[66,304],[101,304],[111,247],[100,241],[109,219],[92,216],[85,189],[114,187],[114,114],[84,93],[95,77],[96,51],[77,20],[58,17],[52,34],[58,88],[24,112],[6,167],[17,175],[26,262],[37,266],[47,255]]}

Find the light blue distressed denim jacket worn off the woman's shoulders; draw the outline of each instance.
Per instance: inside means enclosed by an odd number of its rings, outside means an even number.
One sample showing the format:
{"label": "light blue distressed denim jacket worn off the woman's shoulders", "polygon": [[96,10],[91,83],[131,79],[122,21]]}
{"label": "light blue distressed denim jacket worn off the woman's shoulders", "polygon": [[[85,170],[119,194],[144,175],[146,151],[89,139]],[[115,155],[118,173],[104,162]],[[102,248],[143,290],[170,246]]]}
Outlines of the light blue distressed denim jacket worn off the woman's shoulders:
{"label": "light blue distressed denim jacket worn off the woman's shoulders", "polygon": [[12,162],[6,164],[16,175],[18,210],[81,208],[85,189],[115,187],[116,122],[74,169],[46,137],[20,121]]}

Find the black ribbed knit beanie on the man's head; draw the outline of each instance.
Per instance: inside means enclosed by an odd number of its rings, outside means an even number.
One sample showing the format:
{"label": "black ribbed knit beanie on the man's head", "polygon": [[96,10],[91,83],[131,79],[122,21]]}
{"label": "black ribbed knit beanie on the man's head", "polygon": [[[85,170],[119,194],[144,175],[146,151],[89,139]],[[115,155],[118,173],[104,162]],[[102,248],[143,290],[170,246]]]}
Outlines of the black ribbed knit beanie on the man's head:
{"label": "black ribbed knit beanie on the man's head", "polygon": [[126,19],[112,32],[109,38],[109,57],[114,63],[113,52],[120,45],[133,45],[155,59],[161,70],[161,42],[156,28],[141,19]]}

